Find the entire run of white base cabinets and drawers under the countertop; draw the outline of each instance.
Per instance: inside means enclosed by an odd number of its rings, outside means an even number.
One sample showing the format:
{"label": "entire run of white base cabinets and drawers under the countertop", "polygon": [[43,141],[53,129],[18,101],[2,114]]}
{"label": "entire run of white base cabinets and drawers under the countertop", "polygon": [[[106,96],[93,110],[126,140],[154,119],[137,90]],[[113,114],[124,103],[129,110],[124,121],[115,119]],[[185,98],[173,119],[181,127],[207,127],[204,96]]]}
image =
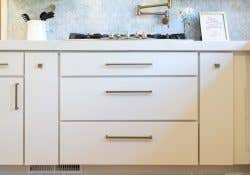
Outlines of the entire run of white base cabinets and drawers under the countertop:
{"label": "entire run of white base cabinets and drawers under the countertop", "polygon": [[0,165],[250,164],[245,53],[23,55],[0,53]]}

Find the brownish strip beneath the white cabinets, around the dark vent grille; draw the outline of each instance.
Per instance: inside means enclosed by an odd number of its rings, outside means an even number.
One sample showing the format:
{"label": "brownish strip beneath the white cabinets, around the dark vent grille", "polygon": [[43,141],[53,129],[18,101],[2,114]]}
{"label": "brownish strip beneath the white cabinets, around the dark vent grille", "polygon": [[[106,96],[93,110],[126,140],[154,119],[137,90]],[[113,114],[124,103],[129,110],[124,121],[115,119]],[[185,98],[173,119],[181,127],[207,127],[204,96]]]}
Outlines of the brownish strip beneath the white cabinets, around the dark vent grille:
{"label": "brownish strip beneath the white cabinets, around the dark vent grille", "polygon": [[[43,167],[44,168],[44,167]],[[0,175],[250,175],[250,166],[82,166],[79,171],[47,171],[30,167],[0,166]]]}

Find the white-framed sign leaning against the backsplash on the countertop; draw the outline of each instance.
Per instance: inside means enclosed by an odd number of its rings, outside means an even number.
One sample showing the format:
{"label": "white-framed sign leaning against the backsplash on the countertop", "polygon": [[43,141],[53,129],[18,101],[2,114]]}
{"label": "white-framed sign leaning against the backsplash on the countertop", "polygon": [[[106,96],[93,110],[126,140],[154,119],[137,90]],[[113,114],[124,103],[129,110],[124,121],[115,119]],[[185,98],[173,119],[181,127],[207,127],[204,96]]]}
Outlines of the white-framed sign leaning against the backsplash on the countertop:
{"label": "white-framed sign leaning against the backsplash on the countertop", "polygon": [[203,41],[228,41],[228,27],[224,12],[200,12]]}

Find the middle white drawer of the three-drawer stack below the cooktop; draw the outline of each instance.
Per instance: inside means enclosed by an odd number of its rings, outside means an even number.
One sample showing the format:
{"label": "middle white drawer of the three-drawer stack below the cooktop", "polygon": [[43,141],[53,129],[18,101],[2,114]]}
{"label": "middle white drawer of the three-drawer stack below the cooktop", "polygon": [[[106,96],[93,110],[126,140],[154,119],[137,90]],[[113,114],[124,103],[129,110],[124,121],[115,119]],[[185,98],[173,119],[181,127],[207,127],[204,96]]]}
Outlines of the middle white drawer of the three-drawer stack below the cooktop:
{"label": "middle white drawer of the three-drawer stack below the cooktop", "polygon": [[62,120],[196,120],[196,77],[62,78]]}

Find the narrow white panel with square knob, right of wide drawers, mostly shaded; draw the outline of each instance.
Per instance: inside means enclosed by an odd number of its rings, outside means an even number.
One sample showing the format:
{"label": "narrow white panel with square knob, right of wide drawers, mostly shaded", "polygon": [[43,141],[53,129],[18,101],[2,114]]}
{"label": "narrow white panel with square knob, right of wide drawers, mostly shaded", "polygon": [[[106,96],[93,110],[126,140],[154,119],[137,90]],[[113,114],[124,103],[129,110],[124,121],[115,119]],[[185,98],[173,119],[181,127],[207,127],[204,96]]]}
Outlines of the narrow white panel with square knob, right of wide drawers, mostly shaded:
{"label": "narrow white panel with square knob, right of wide drawers, mostly shaded", "polygon": [[233,164],[232,53],[200,54],[200,164]]}

